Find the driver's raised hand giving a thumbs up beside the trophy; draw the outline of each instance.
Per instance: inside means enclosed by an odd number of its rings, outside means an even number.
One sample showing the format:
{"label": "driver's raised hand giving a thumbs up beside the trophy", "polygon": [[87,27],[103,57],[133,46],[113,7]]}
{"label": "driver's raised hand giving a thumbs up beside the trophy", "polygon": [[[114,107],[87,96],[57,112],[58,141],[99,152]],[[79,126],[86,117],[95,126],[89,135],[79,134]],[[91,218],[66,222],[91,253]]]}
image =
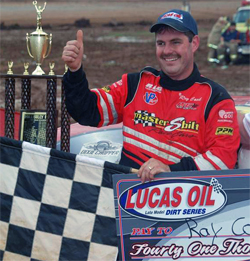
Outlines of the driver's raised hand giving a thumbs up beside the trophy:
{"label": "driver's raised hand giving a thumbs up beside the trophy", "polygon": [[76,40],[67,42],[62,53],[62,60],[72,72],[77,71],[81,67],[83,51],[83,32],[78,30]]}

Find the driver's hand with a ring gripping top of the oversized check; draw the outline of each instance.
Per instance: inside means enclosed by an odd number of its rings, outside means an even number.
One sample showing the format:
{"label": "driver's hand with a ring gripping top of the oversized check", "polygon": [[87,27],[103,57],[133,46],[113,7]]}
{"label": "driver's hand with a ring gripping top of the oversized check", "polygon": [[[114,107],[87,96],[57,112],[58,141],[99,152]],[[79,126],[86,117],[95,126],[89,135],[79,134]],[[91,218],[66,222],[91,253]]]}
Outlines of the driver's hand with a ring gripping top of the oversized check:
{"label": "driver's hand with a ring gripping top of the oversized check", "polygon": [[146,161],[138,171],[138,177],[141,178],[142,183],[154,179],[154,176],[161,172],[170,172],[168,165],[165,165],[157,159],[149,159]]}

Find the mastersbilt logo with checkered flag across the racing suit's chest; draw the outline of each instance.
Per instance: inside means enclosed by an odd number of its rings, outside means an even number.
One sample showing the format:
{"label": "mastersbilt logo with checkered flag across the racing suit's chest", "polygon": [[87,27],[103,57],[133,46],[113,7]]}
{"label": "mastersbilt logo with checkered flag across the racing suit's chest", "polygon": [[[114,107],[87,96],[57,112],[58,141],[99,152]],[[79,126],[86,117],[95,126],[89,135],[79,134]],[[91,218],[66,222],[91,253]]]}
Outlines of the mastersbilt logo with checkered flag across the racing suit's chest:
{"label": "mastersbilt logo with checkered flag across the racing suit's chest", "polygon": [[200,126],[196,121],[186,121],[185,117],[178,117],[173,120],[164,120],[156,117],[155,113],[150,113],[145,110],[135,111],[134,123],[142,124],[143,127],[153,126],[156,128],[161,128],[166,132],[181,130],[197,133]]}

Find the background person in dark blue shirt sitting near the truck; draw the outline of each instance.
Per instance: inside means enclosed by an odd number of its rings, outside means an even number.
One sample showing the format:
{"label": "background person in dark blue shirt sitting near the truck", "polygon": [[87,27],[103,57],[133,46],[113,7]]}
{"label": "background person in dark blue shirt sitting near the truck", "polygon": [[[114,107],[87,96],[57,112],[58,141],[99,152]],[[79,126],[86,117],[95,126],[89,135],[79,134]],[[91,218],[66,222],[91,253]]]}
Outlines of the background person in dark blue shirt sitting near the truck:
{"label": "background person in dark blue shirt sitting near the truck", "polygon": [[236,30],[235,22],[231,22],[228,29],[221,35],[220,44],[217,50],[222,69],[227,68],[225,54],[228,48],[230,63],[234,64],[237,61],[238,44],[240,41],[240,32]]}

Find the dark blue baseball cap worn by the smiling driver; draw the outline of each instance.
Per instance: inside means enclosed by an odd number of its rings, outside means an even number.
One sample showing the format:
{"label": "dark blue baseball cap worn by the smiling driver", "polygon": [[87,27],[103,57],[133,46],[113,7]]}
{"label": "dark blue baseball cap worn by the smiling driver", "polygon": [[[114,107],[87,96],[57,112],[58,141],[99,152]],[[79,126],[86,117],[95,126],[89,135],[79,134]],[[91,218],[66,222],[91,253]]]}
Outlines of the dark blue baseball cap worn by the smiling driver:
{"label": "dark blue baseball cap worn by the smiling driver", "polygon": [[157,19],[157,22],[150,28],[150,32],[156,32],[162,25],[168,25],[179,32],[191,31],[195,35],[198,35],[198,28],[196,21],[189,12],[172,9]]}

